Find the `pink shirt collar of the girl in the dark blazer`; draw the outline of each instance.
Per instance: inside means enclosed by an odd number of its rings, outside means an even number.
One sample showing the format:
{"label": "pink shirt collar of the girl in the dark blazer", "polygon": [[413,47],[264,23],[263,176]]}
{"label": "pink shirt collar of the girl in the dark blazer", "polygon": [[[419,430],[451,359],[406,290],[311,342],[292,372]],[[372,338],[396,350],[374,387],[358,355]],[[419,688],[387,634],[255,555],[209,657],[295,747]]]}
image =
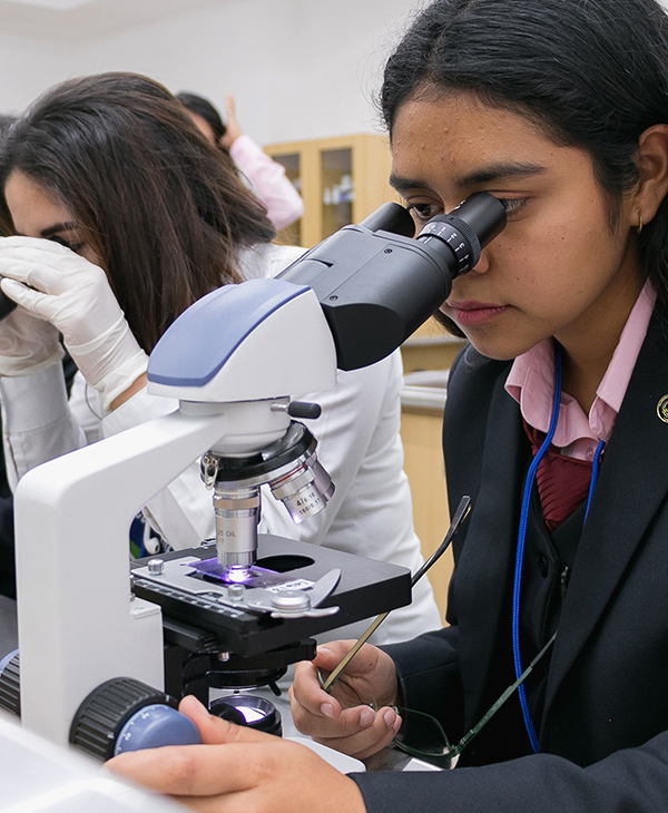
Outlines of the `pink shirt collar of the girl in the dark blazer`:
{"label": "pink shirt collar of the girl in the dark blazer", "polygon": [[[589,415],[570,395],[562,392],[559,421],[552,444],[562,454],[591,460],[599,440],[608,441],[627,391],[638,353],[656,302],[649,281],[645,283],[619,337],[606,374],[596,391]],[[522,418],[541,432],[547,432],[552,414],[554,393],[554,353],[546,340],[519,355],[510,370],[505,390],[520,404]]]}

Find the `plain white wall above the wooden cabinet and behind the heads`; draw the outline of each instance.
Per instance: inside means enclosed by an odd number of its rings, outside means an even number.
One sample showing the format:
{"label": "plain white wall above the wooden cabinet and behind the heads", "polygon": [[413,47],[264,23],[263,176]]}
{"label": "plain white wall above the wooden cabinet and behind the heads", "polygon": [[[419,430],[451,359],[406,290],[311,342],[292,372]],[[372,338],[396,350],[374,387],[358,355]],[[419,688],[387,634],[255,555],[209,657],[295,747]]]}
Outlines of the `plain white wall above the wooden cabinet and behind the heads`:
{"label": "plain white wall above the wooden cabinet and behind the heads", "polygon": [[216,0],[88,41],[2,35],[0,111],[68,76],[132,70],[223,106],[261,144],[377,129],[380,68],[424,0]]}

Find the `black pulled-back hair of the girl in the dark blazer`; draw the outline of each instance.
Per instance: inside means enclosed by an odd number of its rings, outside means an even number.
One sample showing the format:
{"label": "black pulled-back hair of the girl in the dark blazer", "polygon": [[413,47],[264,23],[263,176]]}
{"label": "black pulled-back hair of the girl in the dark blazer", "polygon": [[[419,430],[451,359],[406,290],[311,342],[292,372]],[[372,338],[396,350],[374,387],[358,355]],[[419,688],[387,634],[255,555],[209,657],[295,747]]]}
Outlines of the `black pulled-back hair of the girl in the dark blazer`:
{"label": "black pulled-back hair of the girl in the dark blazer", "polygon": [[[668,18],[655,0],[436,0],[386,63],[380,105],[390,136],[410,96],[448,90],[472,91],[586,149],[612,227],[639,179],[640,135],[668,123]],[[638,249],[666,308],[666,199]]]}

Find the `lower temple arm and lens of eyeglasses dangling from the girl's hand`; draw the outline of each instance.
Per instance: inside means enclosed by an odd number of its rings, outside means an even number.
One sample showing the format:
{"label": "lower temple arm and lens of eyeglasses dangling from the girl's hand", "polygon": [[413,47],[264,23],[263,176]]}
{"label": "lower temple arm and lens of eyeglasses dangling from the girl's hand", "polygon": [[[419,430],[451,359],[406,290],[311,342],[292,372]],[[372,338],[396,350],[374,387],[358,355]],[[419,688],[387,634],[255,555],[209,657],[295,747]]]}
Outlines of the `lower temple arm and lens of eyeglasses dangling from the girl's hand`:
{"label": "lower temple arm and lens of eyeglasses dangling from the girl's hand", "polygon": [[[404,708],[403,706],[393,706],[394,711],[402,718],[402,727],[400,734],[394,737],[393,744],[400,751],[431,762],[439,767],[454,767],[452,764],[469,743],[475,737],[480,731],[490,722],[501,706],[508,701],[518,686],[523,683],[533,670],[533,667],[543,657],[548,649],[554,643],[557,633],[550,638],[546,646],[538,653],[520,677],[510,685],[499,699],[482,716],[479,723],[473,726],[464,736],[454,745],[450,743],[448,735],[443,731],[441,723],[431,714],[418,712],[413,708]],[[367,705],[374,711],[379,709],[379,705],[372,697]],[[415,743],[415,745],[413,745]]]}

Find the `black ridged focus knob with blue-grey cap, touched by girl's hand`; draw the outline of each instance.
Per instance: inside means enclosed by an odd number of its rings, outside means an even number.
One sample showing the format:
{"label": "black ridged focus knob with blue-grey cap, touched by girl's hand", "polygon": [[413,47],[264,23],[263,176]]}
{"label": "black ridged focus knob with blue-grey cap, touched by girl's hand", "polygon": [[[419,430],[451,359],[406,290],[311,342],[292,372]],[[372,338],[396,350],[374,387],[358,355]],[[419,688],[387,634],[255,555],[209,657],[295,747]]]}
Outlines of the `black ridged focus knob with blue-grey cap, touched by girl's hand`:
{"label": "black ridged focus knob with blue-grey cap, touched by girl's hand", "polygon": [[195,724],[174,697],[129,677],[95,688],[79,706],[70,743],[105,761],[125,751],[199,743]]}

